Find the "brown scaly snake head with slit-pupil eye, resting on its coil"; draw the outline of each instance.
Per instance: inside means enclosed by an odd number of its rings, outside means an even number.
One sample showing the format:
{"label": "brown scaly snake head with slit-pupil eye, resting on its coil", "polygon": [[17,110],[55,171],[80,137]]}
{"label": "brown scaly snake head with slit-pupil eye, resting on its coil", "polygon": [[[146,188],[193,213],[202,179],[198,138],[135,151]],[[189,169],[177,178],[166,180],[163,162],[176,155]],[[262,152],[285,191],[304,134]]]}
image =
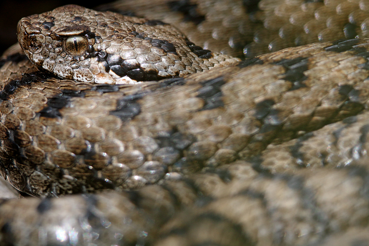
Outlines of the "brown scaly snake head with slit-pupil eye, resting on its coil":
{"label": "brown scaly snake head with slit-pupil eye, resting on its coil", "polygon": [[161,21],[66,5],[18,22],[39,68],[79,82],[127,84],[202,72],[225,60]]}

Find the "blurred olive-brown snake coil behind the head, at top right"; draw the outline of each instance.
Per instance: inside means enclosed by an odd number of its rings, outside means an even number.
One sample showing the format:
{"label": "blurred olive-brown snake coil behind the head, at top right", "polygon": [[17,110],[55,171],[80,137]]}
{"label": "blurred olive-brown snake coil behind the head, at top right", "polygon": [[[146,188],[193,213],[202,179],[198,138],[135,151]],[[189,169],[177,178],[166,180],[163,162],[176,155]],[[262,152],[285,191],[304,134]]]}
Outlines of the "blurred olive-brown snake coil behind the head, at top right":
{"label": "blurred olive-brown snake coil behind the head, at top right", "polygon": [[[154,10],[143,2],[117,1],[100,8],[162,20],[196,44],[234,56],[253,57],[313,42],[368,37],[366,1],[262,0],[257,10],[232,0],[157,1]],[[196,14],[187,13],[187,8]]]}

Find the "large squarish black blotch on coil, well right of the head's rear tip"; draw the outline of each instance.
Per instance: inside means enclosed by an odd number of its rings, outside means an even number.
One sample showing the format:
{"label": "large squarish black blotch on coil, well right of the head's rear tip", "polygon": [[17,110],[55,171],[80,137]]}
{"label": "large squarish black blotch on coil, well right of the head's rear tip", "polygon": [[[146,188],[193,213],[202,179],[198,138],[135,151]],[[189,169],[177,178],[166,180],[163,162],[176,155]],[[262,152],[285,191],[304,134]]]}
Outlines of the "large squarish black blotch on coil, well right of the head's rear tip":
{"label": "large squarish black blotch on coil, well right of the head's rear tip", "polygon": [[304,57],[281,59],[280,61],[273,63],[276,65],[282,65],[287,69],[287,71],[283,74],[283,79],[293,83],[293,86],[290,90],[297,90],[302,87],[306,87],[303,81],[307,79],[307,77],[304,75],[304,72],[308,70],[308,59]]}

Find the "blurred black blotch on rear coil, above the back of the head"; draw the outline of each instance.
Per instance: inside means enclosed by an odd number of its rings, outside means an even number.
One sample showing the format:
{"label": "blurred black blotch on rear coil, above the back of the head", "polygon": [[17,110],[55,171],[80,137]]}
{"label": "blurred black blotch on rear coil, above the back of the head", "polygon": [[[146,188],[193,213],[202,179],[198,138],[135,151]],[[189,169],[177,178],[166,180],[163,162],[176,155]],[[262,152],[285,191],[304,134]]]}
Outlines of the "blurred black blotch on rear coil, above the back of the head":
{"label": "blurred black blotch on rear coil, above the back of the head", "polygon": [[168,6],[172,11],[181,12],[184,21],[192,21],[198,25],[205,20],[205,16],[197,11],[197,4],[191,4],[189,0],[169,1]]}

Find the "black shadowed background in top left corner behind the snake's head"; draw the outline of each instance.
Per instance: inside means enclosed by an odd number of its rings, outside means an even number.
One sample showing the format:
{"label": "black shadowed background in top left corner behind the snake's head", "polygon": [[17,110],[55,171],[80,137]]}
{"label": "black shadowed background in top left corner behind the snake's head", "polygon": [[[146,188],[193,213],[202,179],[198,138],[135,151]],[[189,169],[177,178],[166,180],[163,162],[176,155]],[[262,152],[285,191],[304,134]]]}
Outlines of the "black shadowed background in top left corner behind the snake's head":
{"label": "black shadowed background in top left corner behind the snake's head", "polygon": [[[108,3],[110,1],[103,1]],[[45,0],[7,0],[0,1],[0,54],[2,54],[9,46],[17,42],[17,23],[22,17],[31,14],[41,14],[46,11],[53,10],[56,7],[65,4],[78,4],[87,8],[97,6],[96,1],[45,1]]]}

